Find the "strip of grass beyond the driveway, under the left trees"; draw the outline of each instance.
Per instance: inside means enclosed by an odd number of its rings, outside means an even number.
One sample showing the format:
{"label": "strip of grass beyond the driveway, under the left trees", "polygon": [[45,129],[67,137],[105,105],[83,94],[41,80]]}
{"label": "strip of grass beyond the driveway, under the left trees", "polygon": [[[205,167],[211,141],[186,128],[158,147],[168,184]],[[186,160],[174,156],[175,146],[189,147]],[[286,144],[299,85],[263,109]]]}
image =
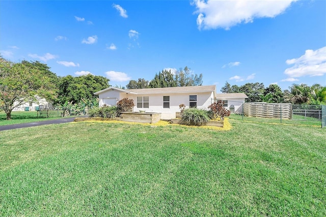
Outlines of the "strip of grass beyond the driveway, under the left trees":
{"label": "strip of grass beyond the driveway, under the left trees", "polygon": [[[61,115],[61,110],[59,111],[59,116]],[[49,118],[45,118],[44,115],[37,117],[36,111],[17,111],[11,113],[11,120],[6,120],[7,116],[4,111],[0,112],[0,126],[11,125],[11,124],[22,124],[22,123],[30,123],[37,121],[46,121],[51,119],[59,119],[58,111],[50,111]]]}

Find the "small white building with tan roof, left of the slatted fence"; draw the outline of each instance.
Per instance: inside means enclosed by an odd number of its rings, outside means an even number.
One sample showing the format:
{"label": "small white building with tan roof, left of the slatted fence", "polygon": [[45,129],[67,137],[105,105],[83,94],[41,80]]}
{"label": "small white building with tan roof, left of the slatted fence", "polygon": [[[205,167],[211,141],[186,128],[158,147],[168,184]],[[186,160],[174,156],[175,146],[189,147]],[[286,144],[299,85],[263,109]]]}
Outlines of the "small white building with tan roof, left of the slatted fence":
{"label": "small white building with tan roof, left of the slatted fence", "polygon": [[215,102],[221,100],[223,106],[231,113],[242,113],[242,105],[248,96],[244,93],[219,93],[216,94]]}

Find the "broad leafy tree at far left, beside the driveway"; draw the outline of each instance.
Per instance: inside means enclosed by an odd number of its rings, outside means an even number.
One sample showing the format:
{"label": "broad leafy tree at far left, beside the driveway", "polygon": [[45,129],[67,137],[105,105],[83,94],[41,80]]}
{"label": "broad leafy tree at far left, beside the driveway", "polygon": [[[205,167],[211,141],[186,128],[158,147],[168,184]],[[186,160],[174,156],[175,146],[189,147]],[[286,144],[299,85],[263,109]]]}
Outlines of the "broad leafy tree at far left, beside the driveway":
{"label": "broad leafy tree at far left, beside the driveway", "polygon": [[56,74],[39,62],[13,63],[1,58],[0,61],[0,107],[11,119],[11,112],[26,101],[36,97],[47,100],[56,98]]}

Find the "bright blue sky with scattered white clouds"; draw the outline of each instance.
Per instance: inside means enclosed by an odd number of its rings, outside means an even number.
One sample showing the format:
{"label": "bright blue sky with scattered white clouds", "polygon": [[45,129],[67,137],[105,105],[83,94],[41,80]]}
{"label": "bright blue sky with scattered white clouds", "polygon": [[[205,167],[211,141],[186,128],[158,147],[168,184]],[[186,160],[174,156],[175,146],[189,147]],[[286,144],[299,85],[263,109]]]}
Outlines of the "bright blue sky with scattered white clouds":
{"label": "bright blue sky with scattered white clouds", "polygon": [[0,55],[126,86],[187,66],[203,85],[326,86],[326,1],[2,1]]}

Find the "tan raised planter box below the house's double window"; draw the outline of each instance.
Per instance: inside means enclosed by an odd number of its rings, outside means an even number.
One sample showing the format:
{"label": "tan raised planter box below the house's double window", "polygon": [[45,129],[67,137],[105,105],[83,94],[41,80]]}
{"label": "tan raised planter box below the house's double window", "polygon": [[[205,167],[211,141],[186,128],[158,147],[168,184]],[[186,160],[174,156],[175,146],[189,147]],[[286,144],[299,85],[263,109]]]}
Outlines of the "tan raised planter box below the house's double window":
{"label": "tan raised planter box below the house's double window", "polygon": [[122,121],[156,123],[161,120],[161,113],[122,112]]}

